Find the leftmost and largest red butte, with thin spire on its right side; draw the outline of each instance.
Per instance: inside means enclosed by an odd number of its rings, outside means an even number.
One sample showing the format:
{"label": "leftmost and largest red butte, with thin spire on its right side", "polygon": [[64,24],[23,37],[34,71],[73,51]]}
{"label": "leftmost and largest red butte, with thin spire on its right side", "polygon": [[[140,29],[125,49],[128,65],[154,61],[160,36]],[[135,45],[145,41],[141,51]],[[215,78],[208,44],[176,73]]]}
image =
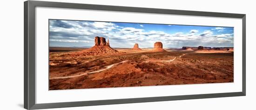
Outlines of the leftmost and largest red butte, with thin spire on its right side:
{"label": "leftmost and largest red butte, with thin spire on its right side", "polygon": [[94,44],[93,47],[84,50],[84,52],[87,52],[89,55],[113,55],[119,53],[110,47],[109,40],[106,42],[104,37],[95,37]]}

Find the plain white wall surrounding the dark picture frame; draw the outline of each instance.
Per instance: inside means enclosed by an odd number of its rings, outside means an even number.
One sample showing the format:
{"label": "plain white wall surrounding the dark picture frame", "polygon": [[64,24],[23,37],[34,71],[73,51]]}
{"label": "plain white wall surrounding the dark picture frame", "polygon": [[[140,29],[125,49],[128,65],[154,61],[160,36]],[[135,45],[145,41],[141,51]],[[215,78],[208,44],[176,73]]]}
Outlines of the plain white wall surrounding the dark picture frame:
{"label": "plain white wall surrounding the dark picture frame", "polygon": [[[23,110],[23,1],[4,0],[0,5],[0,110]],[[53,110],[255,110],[256,10],[254,0],[48,0],[87,4],[135,6],[246,14],[247,96],[179,100],[137,104],[101,105]],[[157,90],[155,90],[157,91]]]}

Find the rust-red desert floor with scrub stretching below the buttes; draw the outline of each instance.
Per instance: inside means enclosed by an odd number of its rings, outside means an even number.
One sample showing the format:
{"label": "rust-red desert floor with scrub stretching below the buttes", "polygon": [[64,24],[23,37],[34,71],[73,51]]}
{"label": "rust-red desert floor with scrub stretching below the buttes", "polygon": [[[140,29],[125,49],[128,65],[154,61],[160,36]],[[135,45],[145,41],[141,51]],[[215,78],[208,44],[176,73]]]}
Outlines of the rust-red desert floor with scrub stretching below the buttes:
{"label": "rust-red desert floor with scrub stretching below the buttes", "polygon": [[152,52],[74,56],[50,52],[50,90],[233,82],[233,52]]}

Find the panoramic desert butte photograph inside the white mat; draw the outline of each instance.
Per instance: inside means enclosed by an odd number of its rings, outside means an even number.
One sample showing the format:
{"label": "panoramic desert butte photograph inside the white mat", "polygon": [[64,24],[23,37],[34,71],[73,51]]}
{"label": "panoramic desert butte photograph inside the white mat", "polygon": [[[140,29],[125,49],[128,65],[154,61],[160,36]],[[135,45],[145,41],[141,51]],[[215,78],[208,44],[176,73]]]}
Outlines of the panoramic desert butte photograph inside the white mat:
{"label": "panoramic desert butte photograph inside the white mat", "polygon": [[234,28],[49,19],[49,90],[234,82]]}

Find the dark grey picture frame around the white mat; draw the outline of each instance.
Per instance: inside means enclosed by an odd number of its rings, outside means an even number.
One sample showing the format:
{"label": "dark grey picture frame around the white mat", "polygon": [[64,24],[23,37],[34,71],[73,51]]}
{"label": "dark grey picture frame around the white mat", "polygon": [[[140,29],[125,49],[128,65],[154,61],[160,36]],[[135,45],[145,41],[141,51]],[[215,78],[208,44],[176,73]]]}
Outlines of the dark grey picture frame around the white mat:
{"label": "dark grey picture frame around the white mat", "polygon": [[[166,97],[148,97],[148,98],[126,98],[126,99],[111,99],[111,100],[93,100],[79,102],[63,102],[63,103],[47,103],[35,104],[35,7],[58,7],[58,8],[74,8],[74,9],[90,9],[104,11],[121,11],[121,12],[146,12],[146,13],[162,13],[176,15],[193,15],[193,16],[209,16],[209,17],[225,17],[225,18],[241,18],[243,21],[243,90],[242,92],[229,93],[212,93],[198,95],[181,95],[181,96],[166,96]],[[77,3],[63,2],[48,2],[48,1],[25,1],[24,2],[24,108],[27,110],[61,108],[61,107],[78,107],[91,105],[106,105],[106,104],[128,104],[142,103],[155,101],[171,101],[184,99],[198,98],[220,98],[234,97],[246,95],[246,15],[235,13],[220,13],[220,12],[199,12],[185,10],[170,10],[170,9],[155,9],[141,7],[126,7],[126,6],[105,6],[105,5],[90,5]]]}

